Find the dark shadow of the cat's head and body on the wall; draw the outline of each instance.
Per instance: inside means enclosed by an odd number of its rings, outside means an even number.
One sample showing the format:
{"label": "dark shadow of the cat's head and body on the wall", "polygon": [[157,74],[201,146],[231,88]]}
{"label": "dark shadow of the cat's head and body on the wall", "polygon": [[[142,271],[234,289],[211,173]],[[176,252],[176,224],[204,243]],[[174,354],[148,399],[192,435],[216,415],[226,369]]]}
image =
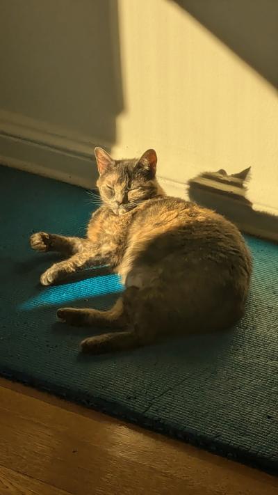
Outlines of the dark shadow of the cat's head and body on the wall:
{"label": "dark shadow of the cat's head and body on the wall", "polygon": [[228,175],[226,171],[203,172],[188,180],[190,201],[211,208],[236,223],[243,232],[278,242],[278,216],[254,210],[247,198],[251,167]]}

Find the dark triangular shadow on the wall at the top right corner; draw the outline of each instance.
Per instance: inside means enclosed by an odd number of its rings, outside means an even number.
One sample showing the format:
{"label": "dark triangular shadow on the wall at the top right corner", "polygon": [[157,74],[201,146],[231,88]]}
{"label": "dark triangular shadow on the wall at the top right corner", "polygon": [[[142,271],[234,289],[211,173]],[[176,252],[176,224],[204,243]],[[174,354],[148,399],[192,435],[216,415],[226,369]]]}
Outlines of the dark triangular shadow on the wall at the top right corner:
{"label": "dark triangular shadow on the wall at the top right corner", "polygon": [[278,88],[277,0],[168,0]]}

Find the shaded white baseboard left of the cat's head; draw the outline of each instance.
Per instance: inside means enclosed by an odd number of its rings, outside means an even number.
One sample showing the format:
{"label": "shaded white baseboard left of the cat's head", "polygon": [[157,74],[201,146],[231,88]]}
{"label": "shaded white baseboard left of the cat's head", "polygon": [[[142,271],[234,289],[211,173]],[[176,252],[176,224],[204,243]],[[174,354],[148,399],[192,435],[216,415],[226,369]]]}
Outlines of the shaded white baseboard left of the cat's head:
{"label": "shaded white baseboard left of the cat's head", "polygon": [[[0,110],[3,165],[91,188],[97,180],[95,143],[68,129]],[[107,143],[101,145],[109,148]]]}

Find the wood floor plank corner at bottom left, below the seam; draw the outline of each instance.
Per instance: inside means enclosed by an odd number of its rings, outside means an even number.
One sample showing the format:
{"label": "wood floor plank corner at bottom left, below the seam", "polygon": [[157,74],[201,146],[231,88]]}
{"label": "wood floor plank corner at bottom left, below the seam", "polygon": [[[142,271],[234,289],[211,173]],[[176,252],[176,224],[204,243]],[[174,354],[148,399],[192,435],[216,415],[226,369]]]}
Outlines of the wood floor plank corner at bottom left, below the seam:
{"label": "wood floor plank corner at bottom left, below the seam", "polygon": [[0,466],[1,495],[71,495],[56,487]]}

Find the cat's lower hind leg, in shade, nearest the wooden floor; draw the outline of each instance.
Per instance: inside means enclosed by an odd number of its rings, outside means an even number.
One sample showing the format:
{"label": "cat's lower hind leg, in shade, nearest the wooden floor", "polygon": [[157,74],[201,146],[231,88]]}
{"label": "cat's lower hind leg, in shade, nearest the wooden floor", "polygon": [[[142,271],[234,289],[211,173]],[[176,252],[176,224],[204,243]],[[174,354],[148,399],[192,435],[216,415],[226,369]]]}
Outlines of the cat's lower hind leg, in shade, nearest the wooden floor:
{"label": "cat's lower hind leg, in shade, nearest the wooden floor", "polygon": [[119,331],[86,338],[81,349],[87,354],[106,354],[140,347],[146,343],[136,331]]}

